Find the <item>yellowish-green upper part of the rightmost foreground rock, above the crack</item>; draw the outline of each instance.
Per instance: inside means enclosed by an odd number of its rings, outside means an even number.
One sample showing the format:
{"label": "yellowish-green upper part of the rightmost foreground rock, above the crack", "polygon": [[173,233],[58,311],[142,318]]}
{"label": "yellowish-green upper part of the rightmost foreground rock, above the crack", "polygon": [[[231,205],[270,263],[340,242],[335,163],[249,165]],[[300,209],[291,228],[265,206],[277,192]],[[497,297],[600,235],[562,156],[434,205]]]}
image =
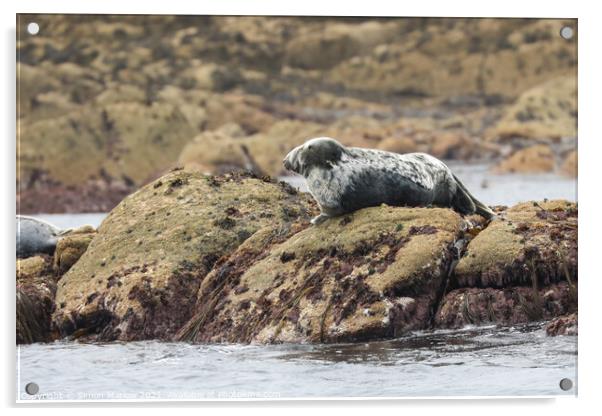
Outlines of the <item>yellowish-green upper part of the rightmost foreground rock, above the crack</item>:
{"label": "yellowish-green upper part of the rightmost foreground rock, above the crack", "polygon": [[454,271],[458,287],[540,286],[577,279],[577,204],[524,202],[498,217],[467,246]]}

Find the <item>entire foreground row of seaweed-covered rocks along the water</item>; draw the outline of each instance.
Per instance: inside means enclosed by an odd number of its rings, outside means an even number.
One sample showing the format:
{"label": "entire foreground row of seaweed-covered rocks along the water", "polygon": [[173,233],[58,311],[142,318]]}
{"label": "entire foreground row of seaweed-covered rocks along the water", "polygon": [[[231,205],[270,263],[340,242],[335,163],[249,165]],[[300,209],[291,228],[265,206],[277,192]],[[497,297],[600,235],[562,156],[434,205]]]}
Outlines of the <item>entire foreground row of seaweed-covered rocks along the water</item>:
{"label": "entire foreground row of seaweed-covered rocks along the water", "polygon": [[577,333],[578,208],[380,206],[314,227],[269,177],[174,170],[54,257],[17,260],[17,342],[369,341],[551,320]]}

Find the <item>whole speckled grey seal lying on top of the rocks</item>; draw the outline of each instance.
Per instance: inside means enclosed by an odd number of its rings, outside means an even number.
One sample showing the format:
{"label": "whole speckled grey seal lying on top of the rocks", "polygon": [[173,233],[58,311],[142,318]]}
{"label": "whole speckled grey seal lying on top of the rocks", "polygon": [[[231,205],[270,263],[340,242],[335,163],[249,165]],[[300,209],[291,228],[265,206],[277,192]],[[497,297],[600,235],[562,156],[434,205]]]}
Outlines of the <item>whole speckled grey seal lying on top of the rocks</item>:
{"label": "whole speckled grey seal lying on top of the rocks", "polygon": [[307,180],[309,192],[320,206],[320,215],[311,221],[316,225],[382,203],[435,205],[462,215],[495,216],[443,162],[426,153],[345,147],[330,137],[318,137],[291,150],[283,164]]}

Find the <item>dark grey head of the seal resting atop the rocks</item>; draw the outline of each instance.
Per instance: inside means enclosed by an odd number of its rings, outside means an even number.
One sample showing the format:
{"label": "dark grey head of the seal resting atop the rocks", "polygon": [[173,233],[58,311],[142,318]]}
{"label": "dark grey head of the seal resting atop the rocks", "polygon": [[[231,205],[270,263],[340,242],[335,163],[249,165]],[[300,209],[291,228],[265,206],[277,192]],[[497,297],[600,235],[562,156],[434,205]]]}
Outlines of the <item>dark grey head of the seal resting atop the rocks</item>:
{"label": "dark grey head of the seal resting atop the rocks", "polygon": [[286,169],[305,176],[312,167],[330,169],[345,151],[345,146],[335,139],[318,137],[291,150],[283,164]]}

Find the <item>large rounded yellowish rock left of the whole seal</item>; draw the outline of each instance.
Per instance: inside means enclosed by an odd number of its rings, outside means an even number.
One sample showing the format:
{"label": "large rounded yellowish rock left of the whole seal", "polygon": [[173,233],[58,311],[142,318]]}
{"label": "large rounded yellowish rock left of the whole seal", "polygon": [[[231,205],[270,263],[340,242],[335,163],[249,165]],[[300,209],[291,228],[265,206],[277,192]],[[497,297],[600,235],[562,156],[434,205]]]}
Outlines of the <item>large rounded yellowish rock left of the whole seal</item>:
{"label": "large rounded yellowish rock left of the whole seal", "polygon": [[266,226],[315,215],[308,195],[268,178],[175,170],[125,198],[59,282],[53,323],[88,340],[169,339],[205,275]]}

